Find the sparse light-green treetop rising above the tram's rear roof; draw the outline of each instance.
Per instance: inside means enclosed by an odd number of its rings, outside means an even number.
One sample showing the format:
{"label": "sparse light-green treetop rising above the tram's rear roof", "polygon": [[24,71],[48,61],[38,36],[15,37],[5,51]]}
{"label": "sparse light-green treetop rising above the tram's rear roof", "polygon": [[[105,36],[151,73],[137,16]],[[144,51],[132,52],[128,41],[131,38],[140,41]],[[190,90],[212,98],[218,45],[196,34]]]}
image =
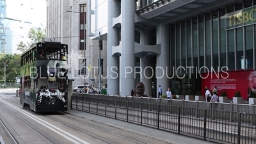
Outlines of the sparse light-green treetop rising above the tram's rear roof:
{"label": "sparse light-green treetop rising above the tram's rear roof", "polygon": [[42,38],[45,37],[45,28],[44,27],[38,27],[38,28],[31,28],[28,31],[28,38],[31,39],[31,42],[27,42],[25,44],[24,42],[20,42],[17,44],[18,48],[17,50],[24,52],[27,49],[31,47],[35,47],[36,43],[41,42]]}

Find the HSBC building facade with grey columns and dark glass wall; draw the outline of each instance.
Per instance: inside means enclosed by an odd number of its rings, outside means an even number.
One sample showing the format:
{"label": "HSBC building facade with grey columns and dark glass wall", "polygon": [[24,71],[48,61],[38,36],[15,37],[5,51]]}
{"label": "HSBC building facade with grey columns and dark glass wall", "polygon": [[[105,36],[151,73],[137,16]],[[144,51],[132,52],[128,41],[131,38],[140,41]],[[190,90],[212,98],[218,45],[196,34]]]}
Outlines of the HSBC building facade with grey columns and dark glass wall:
{"label": "HSBC building facade with grey columns and dark glass wall", "polygon": [[[108,67],[118,69],[118,77],[108,77],[108,93],[129,95],[139,80],[152,97],[159,85],[163,93],[171,88],[195,94],[211,81],[205,74],[255,70],[255,5],[255,0],[92,1],[92,33],[106,35]],[[141,73],[134,58],[140,59]],[[237,90],[221,83],[207,87]]]}

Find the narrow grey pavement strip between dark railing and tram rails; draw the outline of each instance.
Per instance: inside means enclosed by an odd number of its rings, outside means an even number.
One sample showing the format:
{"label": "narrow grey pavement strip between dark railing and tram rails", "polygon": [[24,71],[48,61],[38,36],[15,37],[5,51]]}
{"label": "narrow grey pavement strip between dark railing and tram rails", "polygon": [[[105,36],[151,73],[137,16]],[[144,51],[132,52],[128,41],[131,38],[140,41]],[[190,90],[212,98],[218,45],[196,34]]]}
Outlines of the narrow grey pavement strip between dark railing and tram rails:
{"label": "narrow grey pavement strip between dark railing and tram rails", "polygon": [[152,139],[163,141],[170,144],[188,144],[188,143],[189,144],[205,144],[205,143],[211,144],[213,143],[211,141],[204,141],[203,138],[202,140],[199,140],[196,138],[191,138],[189,136],[177,134],[174,132],[172,133],[172,132],[162,131],[159,129],[154,129],[154,128],[146,127],[143,125],[132,124],[130,122],[115,120],[113,118],[107,118],[104,116],[86,113],[83,111],[77,111],[74,109],[68,109],[67,113],[70,113],[71,115],[80,116],[88,120],[98,122],[100,124],[109,125],[117,129],[122,129],[124,131],[129,131],[134,134],[138,134],[141,136],[145,136],[148,138],[152,138]]}

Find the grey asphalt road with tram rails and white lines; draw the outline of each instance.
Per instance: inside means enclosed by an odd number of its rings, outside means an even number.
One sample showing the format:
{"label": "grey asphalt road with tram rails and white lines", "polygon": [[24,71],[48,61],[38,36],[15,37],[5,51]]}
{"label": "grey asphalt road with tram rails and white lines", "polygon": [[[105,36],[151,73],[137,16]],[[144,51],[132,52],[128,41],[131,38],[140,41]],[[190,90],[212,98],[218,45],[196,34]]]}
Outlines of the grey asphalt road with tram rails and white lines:
{"label": "grey asphalt road with tram rails and white lines", "polygon": [[[0,89],[0,112],[19,143],[213,143],[74,109],[34,113],[19,105],[14,89]],[[0,132],[6,143],[13,142],[3,125]]]}

